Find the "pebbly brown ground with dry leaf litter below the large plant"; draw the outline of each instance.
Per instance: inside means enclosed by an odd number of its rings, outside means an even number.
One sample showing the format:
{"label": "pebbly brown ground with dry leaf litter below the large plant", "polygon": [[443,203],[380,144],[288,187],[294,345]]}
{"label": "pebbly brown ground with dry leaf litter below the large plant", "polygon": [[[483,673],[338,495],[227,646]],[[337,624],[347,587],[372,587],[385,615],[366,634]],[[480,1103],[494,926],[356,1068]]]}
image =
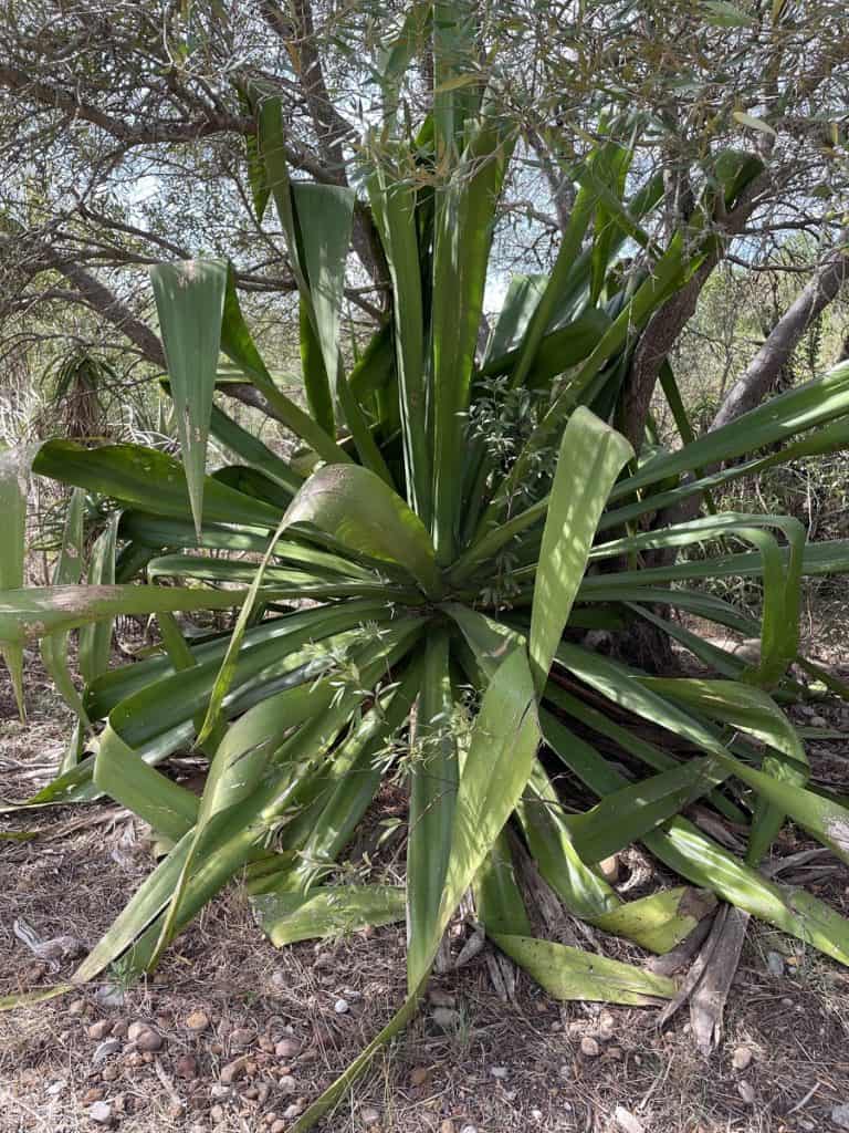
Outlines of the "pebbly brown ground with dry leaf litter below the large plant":
{"label": "pebbly brown ground with dry leaf litter below the large plant", "polygon": [[[833,636],[826,621],[826,636]],[[35,665],[32,672],[26,725],[16,722],[8,684],[0,685],[0,793],[7,798],[28,795],[45,782],[63,742],[61,708]],[[849,729],[847,708],[816,712]],[[812,743],[809,750],[815,778],[849,793],[846,744]],[[139,824],[111,804],[0,824],[7,834],[38,832],[31,841],[0,841],[0,995],[49,988],[67,979],[74,961],[51,972],[15,936],[14,921],[23,919],[43,939],[69,934],[91,947],[153,859]],[[804,845],[788,830],[777,852]],[[830,866],[811,888],[849,914],[849,869]],[[602,935],[599,944],[608,955],[645,959]],[[122,1133],[281,1133],[392,1015],[404,982],[403,928],[276,951],[231,886],[152,980],[123,988],[118,973],[109,985],[0,1014],[0,1131],[89,1133],[106,1127],[95,1121],[103,1116]],[[348,1003],[343,1013],[340,999]],[[438,1006],[454,1012],[447,1029],[434,1017]],[[662,1033],[655,1015],[559,1005],[522,974],[515,1000],[503,1002],[480,955],[435,980],[419,1019],[323,1128],[849,1127],[849,1117],[847,1125],[832,1121],[834,1107],[849,1104],[849,971],[818,953],[753,925],[726,1033],[710,1058],[695,1051],[686,1011]],[[158,1049],[130,1040],[128,1026],[139,1021],[161,1037]],[[588,1038],[595,1041],[582,1043]]]}

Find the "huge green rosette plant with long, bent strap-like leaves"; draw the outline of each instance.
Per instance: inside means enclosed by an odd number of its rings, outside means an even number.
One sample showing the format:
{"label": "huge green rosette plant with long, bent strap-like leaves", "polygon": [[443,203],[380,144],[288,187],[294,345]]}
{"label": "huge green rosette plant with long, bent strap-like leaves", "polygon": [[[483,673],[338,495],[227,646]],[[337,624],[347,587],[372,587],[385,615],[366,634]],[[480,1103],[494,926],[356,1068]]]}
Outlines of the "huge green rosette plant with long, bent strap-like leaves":
{"label": "huge green rosette plant with long, bent strap-like leaves", "polygon": [[[719,898],[849,963],[849,923],[758,870],[788,817],[849,860],[849,811],[806,786],[804,744],[780,707],[804,692],[790,666],[812,670],[798,653],[801,578],[842,570],[849,546],[809,546],[801,525],[780,516],[709,511],[642,529],[736,478],[844,448],[849,365],[697,440],[667,369],[685,443],[635,459],[611,424],[634,346],[711,254],[714,215],[760,163],[715,155],[688,227],[659,247],[649,227],[661,181],[625,199],[632,150],[619,140],[581,165],[550,276],[514,280],[478,360],[514,133],[457,63],[462,29],[452,39],[447,23],[439,28],[432,113],[414,135],[389,118],[365,142],[392,317],[351,373],[340,323],[354,194],[291,181],[280,104],[251,92],[251,173],[260,216],[274,199],[300,292],[309,410],[275,384],[229,265],[163,264],[153,281],[182,462],[139,445],[49,442],[35,472],[76,489],[57,585],[15,589],[23,536],[0,544],[0,641],[16,684],[24,646],[41,639],[78,716],[61,774],[31,803],[110,795],[168,849],[76,981],[119,960],[151,970],[241,872],[277,945],[406,918],[405,1003],[295,1130],[414,1012],[470,887],[490,939],[552,995],[674,995],[667,978],[534,938],[516,853],[530,854],[572,914],[652,952],[678,944]],[[400,48],[393,66],[404,61]],[[641,249],[628,270],[626,241]],[[221,352],[302,442],[291,460],[214,403],[216,382],[232,375]],[[209,435],[237,458],[214,476]],[[3,503],[16,516],[24,492],[9,466]],[[79,586],[84,492],[119,510]],[[677,559],[729,536],[752,550]],[[648,565],[650,552],[667,553]],[[687,585],[734,574],[763,579],[760,624]],[[232,631],[187,640],[175,612],[209,610],[239,610]],[[760,637],[760,661],[701,639],[676,610]],[[122,613],[155,614],[163,647],[110,670],[111,620]],[[604,629],[616,640],[640,623],[683,642],[718,679],[650,675],[585,637]],[[82,696],[67,663],[77,628]],[[646,722],[674,738],[675,753],[646,739]],[[208,759],[199,799],[161,769],[188,747]],[[594,807],[563,806],[558,765],[598,796]],[[345,847],[398,770],[410,791],[405,889],[351,883]],[[696,799],[746,830],[745,858],[680,817]],[[684,885],[624,901],[598,863],[635,841],[715,897]]]}

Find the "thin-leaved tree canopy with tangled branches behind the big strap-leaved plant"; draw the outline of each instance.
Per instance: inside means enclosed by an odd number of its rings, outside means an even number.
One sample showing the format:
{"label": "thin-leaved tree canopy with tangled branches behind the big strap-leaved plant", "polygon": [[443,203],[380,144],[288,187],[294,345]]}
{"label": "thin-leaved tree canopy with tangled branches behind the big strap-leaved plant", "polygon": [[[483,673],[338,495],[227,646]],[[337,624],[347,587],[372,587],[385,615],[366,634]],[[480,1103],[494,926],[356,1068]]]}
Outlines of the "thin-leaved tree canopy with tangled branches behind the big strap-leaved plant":
{"label": "thin-leaved tree canopy with tangled branches behind the big strap-leaved plant", "polygon": [[[640,123],[632,176],[663,171],[660,223],[668,231],[693,210],[712,153],[729,144],[757,151],[764,171],[714,221],[723,237],[714,254],[641,338],[624,429],[641,443],[661,361],[723,256],[744,271],[780,267],[788,236],[801,233],[809,261],[799,272],[803,295],[767,337],[743,387],[729,391],[720,419],[757,403],[846,274],[842,3],[451,6],[457,7],[479,44],[470,85],[497,67],[501,109],[521,126],[521,160],[496,233],[494,262],[505,280],[513,270],[550,266],[582,155],[624,112]],[[294,290],[294,280],[280,232],[257,216],[256,105],[248,91],[283,100],[295,176],[357,187],[358,139],[379,109],[391,100],[398,114],[415,113],[431,97],[429,44],[439,20],[431,27],[427,6],[420,8],[421,18],[415,5],[385,0],[6,0],[2,356],[19,359],[45,340],[61,343],[57,349],[96,344],[119,351],[123,380],[138,381],[139,363],[163,363],[146,267],[199,254],[232,259],[247,309],[277,334],[285,356],[291,305],[280,296]],[[405,56],[414,59],[406,71]],[[438,76],[436,91],[438,99]],[[348,280],[352,334],[374,326],[387,301],[386,265],[361,196]],[[641,255],[651,261],[651,249]],[[258,400],[249,386],[234,384],[230,393]]]}

